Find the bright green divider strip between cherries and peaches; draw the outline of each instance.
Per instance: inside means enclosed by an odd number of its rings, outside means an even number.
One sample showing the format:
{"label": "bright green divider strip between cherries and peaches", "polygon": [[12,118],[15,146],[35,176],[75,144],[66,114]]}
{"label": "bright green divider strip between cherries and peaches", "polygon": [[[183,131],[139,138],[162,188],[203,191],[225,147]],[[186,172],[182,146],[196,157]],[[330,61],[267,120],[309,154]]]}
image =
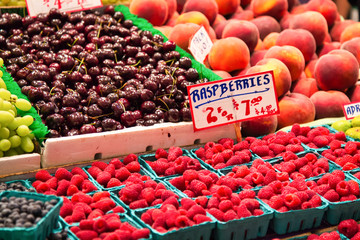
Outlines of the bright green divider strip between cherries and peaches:
{"label": "bright green divider strip between cherries and peaches", "polygon": [[[159,30],[155,29],[153,25],[149,23],[146,19],[131,14],[128,7],[124,5],[118,5],[115,7],[115,11],[122,12],[124,14],[124,18],[126,20],[132,20],[133,24],[137,26],[140,30],[150,31],[152,34],[161,35],[164,38],[164,41],[168,40],[168,38],[164,34],[162,34]],[[180,53],[181,57],[188,57],[191,59],[192,67],[199,72],[200,78],[207,78],[209,81],[216,81],[222,79],[220,76],[213,73],[212,70],[205,67],[204,64],[196,61],[194,57],[188,52],[186,52],[184,49],[180,48],[179,46],[176,46],[175,50]]]}

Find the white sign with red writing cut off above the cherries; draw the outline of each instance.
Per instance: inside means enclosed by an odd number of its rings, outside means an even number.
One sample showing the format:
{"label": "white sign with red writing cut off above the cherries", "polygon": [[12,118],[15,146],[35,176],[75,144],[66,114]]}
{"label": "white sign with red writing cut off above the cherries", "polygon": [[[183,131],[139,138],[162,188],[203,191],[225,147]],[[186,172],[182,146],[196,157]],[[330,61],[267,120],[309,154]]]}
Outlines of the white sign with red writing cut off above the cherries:
{"label": "white sign with red writing cut off above the cherries", "polygon": [[39,13],[48,13],[57,8],[62,12],[75,12],[102,7],[101,0],[26,0],[28,13],[35,17]]}

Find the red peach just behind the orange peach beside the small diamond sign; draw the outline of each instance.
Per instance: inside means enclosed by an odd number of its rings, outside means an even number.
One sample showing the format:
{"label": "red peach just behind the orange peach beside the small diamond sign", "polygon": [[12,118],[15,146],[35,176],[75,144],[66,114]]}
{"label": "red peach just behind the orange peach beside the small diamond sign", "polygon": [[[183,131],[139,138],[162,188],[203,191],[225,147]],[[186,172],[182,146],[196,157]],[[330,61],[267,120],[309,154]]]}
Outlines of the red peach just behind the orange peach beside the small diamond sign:
{"label": "red peach just behind the orange peach beside the small diamond sign", "polygon": [[259,30],[255,24],[249,21],[230,20],[222,33],[222,38],[228,37],[237,37],[243,40],[249,51],[253,52],[259,39]]}

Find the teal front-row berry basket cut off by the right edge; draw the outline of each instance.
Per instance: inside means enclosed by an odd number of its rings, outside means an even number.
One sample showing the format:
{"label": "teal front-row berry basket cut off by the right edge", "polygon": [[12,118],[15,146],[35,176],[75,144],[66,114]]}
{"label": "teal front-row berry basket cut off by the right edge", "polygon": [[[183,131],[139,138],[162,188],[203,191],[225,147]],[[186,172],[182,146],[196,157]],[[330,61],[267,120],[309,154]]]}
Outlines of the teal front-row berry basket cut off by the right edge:
{"label": "teal front-row berry basket cut off by the right edge", "polygon": [[[309,180],[317,181],[320,177],[314,177]],[[345,181],[356,180],[351,174],[345,172]],[[325,213],[325,220],[331,225],[338,225],[342,220],[354,219],[360,220],[360,198],[353,201],[344,202],[330,202],[323,196],[319,195],[321,199],[328,204],[328,209]]]}

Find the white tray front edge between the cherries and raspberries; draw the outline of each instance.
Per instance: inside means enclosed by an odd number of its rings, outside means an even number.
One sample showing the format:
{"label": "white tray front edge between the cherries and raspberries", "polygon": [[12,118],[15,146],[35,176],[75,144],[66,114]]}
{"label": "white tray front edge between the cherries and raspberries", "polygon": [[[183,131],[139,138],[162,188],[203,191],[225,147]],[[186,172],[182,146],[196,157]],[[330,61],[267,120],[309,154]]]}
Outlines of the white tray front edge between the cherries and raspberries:
{"label": "white tray front edge between the cherries and raspberries", "polygon": [[234,125],[194,132],[192,122],[163,123],[118,131],[47,139],[41,158],[43,168],[187,146],[220,138],[236,138]]}

